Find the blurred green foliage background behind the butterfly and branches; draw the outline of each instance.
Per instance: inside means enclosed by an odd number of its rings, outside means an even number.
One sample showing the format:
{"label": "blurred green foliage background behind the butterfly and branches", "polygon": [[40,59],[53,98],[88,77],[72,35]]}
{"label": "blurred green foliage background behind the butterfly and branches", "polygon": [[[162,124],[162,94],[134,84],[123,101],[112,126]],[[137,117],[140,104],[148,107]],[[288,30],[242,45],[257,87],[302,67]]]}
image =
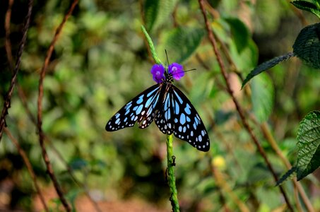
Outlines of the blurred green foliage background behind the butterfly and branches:
{"label": "blurred green foliage background behind the butterfly and branches", "polygon": [[[0,2],[1,105],[12,76],[4,48],[8,2]],[[47,176],[32,117],[37,114],[39,75],[47,49],[70,5],[71,1],[34,2],[18,87],[6,117],[8,130],[28,155],[52,211],[62,210],[61,203]],[[28,1],[13,1],[13,58],[27,8]],[[300,30],[319,20],[285,0],[211,0],[206,1],[206,10],[232,89],[280,176],[288,168],[266,141],[261,126],[270,129],[280,151],[294,165],[299,122],[308,112],[320,109],[319,70],[293,58],[255,78],[244,90],[241,83],[257,64],[292,52]],[[242,204],[250,211],[284,211],[279,189],[226,92],[198,1],[187,0],[81,0],[67,20],[45,76],[42,121],[49,159],[68,201],[78,211],[94,211],[97,208],[85,196],[87,192],[101,211],[171,210],[165,134],[155,124],[143,130],[134,126],[105,131],[117,110],[154,84],[153,59],[141,25],[146,26],[163,63],[167,49],[170,62],[196,69],[175,85],[203,119],[211,150],[202,153],[174,138],[182,211],[242,211]],[[292,182],[283,186],[297,208]],[[302,186],[320,210],[319,174],[303,179]],[[43,210],[7,134],[0,143],[0,208]]]}

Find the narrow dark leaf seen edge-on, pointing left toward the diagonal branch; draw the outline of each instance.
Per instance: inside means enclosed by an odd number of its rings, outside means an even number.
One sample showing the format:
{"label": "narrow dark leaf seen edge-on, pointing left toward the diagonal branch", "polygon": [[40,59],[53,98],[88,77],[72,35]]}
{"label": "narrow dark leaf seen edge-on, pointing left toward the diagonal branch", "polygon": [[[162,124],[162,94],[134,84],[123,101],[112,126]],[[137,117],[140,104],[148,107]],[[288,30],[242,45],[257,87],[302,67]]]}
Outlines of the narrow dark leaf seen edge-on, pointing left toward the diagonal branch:
{"label": "narrow dark leaf seen edge-on, pointing left toward the diagonal branch", "polygon": [[252,70],[247,77],[244,79],[243,83],[242,83],[242,88],[251,80],[251,78],[253,78],[254,76],[258,75],[259,73],[266,71],[268,69],[271,69],[273,66],[275,66],[276,64],[279,64],[282,61],[285,61],[287,59],[289,59],[290,57],[295,56],[294,53],[290,52],[284,55],[281,55],[279,57],[275,57],[271,60],[265,61],[262,64],[260,64],[259,66],[256,66],[256,68],[254,68],[254,70]]}

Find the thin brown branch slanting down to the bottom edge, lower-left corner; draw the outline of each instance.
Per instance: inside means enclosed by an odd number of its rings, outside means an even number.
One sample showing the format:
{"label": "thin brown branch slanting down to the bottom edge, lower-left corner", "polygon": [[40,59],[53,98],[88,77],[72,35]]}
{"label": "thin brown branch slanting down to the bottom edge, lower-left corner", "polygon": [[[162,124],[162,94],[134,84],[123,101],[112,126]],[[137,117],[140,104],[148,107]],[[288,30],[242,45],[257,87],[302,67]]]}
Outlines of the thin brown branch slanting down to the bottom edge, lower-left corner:
{"label": "thin brown branch slanting down to the bottom edge, lower-left corner", "polygon": [[13,135],[11,134],[11,132],[9,131],[8,128],[4,128],[4,132],[6,133],[6,135],[8,136],[8,138],[12,141],[12,143],[14,144],[14,146],[16,146],[18,153],[20,154],[21,158],[23,158],[23,162],[25,163],[25,166],[28,169],[28,172],[32,178],[33,184],[35,184],[35,189],[37,190],[37,194],[39,194],[40,197],[40,201],[42,202],[43,207],[45,208],[45,211],[49,212],[49,209],[47,207],[47,204],[45,203],[45,197],[43,197],[43,194],[41,192],[41,189],[39,187],[39,184],[37,184],[37,177],[35,175],[35,172],[32,169],[32,165],[30,163],[30,160],[28,159],[27,154],[25,153],[25,151],[23,151],[23,148],[21,148],[20,144],[18,143],[18,141],[13,137]]}

